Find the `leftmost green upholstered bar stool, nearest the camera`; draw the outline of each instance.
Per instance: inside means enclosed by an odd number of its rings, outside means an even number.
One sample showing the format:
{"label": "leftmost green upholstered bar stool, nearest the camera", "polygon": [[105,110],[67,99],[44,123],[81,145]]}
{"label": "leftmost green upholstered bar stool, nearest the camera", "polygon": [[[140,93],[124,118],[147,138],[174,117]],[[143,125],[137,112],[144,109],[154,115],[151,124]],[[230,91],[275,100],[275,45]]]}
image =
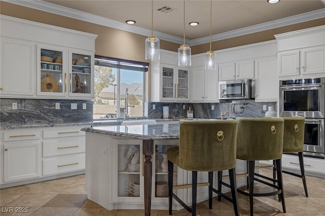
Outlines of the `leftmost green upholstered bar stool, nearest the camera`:
{"label": "leftmost green upholstered bar stool, nearest the camera", "polygon": [[[235,214],[239,215],[236,184],[236,120],[180,120],[179,146],[168,149],[169,214],[172,214],[173,198],[192,215],[196,215],[198,171],[207,171],[209,177],[209,208],[212,209],[212,192],[233,202]],[[173,192],[174,164],[192,171],[192,207],[186,205]],[[213,172],[229,170],[232,197],[213,188]],[[178,187],[174,186],[174,189]]]}

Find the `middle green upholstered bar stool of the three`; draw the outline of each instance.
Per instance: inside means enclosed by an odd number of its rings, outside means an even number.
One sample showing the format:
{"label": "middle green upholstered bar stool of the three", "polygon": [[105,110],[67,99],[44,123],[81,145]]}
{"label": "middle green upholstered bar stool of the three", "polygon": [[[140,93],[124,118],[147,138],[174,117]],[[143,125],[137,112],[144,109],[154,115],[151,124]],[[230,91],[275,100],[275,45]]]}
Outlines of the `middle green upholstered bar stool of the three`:
{"label": "middle green upholstered bar stool of the three", "polygon": [[[249,193],[238,189],[239,193],[249,196],[250,215],[253,215],[254,196],[278,194],[283,212],[286,212],[283,196],[281,158],[283,147],[283,118],[236,118],[237,120],[237,158],[248,161]],[[275,160],[277,179],[268,178],[254,172],[255,161]],[[259,179],[254,176],[260,177]],[[268,180],[265,181],[265,180]],[[254,180],[272,187],[269,193],[254,193]],[[272,182],[272,183],[270,183]],[[273,183],[276,182],[277,185]],[[275,188],[276,191],[273,191]]]}

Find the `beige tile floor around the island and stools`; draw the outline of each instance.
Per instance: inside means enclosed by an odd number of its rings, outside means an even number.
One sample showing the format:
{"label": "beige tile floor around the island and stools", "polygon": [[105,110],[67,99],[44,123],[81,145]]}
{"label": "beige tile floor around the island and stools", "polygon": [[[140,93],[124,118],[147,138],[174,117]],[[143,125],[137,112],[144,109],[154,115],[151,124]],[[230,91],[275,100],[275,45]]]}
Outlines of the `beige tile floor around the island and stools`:
{"label": "beige tile floor around the island and stools", "polygon": [[[262,171],[271,175],[270,169]],[[285,202],[287,212],[282,212],[281,203],[276,196],[255,197],[254,215],[294,215],[294,216],[324,216],[325,215],[325,179],[307,177],[309,197],[306,198],[302,180],[283,174],[285,187]],[[256,184],[256,190],[264,190]],[[239,207],[242,216],[249,215],[249,199],[241,194]],[[41,183],[5,188],[0,190],[0,215],[32,215],[32,216],[138,216],[144,215],[143,210],[112,210],[87,199],[84,175],[62,178]],[[9,213],[9,207],[28,207],[25,213]],[[153,216],[166,216],[167,210],[152,210]],[[186,210],[173,211],[173,215],[191,215]],[[208,202],[198,203],[197,215],[228,216],[234,215],[232,203],[222,199],[213,201],[213,209],[208,209]]]}

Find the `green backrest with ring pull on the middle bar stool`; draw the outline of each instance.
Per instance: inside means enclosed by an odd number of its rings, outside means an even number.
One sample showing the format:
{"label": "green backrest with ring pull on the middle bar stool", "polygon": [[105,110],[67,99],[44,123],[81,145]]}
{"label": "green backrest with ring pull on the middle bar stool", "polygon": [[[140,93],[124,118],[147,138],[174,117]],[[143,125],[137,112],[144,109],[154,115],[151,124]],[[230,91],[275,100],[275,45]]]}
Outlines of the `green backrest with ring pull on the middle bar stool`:
{"label": "green backrest with ring pull on the middle bar stool", "polygon": [[237,120],[237,158],[273,160],[282,157],[283,118],[244,118]]}

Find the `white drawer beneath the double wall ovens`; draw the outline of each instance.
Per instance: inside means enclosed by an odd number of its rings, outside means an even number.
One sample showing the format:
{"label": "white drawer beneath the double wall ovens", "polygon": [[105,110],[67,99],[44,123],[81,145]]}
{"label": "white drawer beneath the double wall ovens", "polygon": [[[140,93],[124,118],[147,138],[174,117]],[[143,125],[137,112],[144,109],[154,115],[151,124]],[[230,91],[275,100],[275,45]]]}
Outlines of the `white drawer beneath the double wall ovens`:
{"label": "white drawer beneath the double wall ovens", "polygon": [[[325,174],[325,161],[323,159],[312,159],[304,157],[305,171],[320,172]],[[282,167],[299,169],[299,158],[298,156],[283,155]]]}

